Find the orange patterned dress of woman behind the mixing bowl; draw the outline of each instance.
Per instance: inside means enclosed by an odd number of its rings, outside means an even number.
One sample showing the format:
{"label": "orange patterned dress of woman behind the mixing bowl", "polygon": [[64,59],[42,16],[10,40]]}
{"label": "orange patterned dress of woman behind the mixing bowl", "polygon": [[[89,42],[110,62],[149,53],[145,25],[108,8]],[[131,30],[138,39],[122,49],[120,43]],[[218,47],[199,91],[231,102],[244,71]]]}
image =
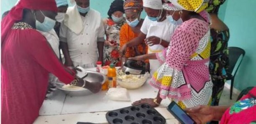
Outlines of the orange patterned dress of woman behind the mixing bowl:
{"label": "orange patterned dress of woman behind the mixing bowl", "polygon": [[[138,34],[134,33],[128,24],[124,24],[120,30],[120,47],[123,47],[127,42],[130,42],[134,38],[138,37]],[[148,53],[148,46],[143,42],[137,47],[128,47],[125,51],[125,57],[135,57],[138,55],[144,55]],[[149,62],[146,60],[145,62]]]}

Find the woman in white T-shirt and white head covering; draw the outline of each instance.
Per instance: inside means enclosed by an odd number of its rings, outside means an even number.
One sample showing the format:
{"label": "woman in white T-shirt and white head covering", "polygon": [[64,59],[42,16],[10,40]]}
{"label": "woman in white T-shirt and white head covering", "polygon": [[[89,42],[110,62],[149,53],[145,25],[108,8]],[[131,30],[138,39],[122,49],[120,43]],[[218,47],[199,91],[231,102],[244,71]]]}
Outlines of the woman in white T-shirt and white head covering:
{"label": "woman in white T-shirt and white head covering", "polygon": [[[138,30],[138,37],[121,47],[121,55],[127,48],[138,46],[143,42],[148,46],[148,53],[161,52],[168,47],[171,41],[170,36],[172,36],[176,25],[166,20],[166,10],[163,9],[161,0],[143,0],[143,7],[148,16]],[[157,60],[149,61],[151,72],[155,72],[161,65]]]}

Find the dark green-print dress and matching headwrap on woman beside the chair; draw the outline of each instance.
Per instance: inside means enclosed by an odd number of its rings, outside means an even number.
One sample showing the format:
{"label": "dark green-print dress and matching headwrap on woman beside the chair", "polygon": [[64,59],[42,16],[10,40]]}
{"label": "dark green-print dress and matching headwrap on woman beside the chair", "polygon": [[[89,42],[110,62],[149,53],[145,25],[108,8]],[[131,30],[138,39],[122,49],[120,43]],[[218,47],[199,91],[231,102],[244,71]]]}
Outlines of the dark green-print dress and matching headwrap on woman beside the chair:
{"label": "dark green-print dress and matching headwrap on woman beside the chair", "polygon": [[[225,0],[210,0],[206,11],[218,14],[220,5]],[[212,105],[218,106],[221,93],[224,89],[225,79],[229,65],[228,60],[228,40],[230,37],[229,30],[211,29],[211,55],[210,55],[210,74],[212,77]]]}

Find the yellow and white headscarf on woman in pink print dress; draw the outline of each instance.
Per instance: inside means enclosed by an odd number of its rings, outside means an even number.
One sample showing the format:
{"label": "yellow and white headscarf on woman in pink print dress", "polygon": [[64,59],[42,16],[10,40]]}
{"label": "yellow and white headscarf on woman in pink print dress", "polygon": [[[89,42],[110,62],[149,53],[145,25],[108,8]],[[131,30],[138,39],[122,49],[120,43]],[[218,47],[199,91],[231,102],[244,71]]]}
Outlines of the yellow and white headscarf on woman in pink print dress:
{"label": "yellow and white headscarf on woman in pink print dress", "polygon": [[175,10],[187,10],[192,12],[201,12],[208,7],[209,0],[164,0],[164,3],[172,3]]}

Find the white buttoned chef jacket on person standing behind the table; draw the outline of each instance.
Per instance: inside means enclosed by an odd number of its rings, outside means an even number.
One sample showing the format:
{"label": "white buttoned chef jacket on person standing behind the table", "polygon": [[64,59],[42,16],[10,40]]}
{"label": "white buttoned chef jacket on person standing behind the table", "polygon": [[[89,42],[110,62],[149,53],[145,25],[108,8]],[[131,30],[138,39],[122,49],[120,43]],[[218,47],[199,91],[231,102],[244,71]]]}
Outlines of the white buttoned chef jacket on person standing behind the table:
{"label": "white buttoned chef jacket on person standing behind the table", "polygon": [[[73,9],[73,11],[77,10]],[[72,16],[69,15],[69,18],[72,18]],[[69,55],[74,64],[79,63],[79,66],[82,67],[84,64],[96,64],[98,60],[97,41],[99,41],[99,38],[103,39],[105,35],[100,13],[90,9],[85,17],[79,15],[79,17],[72,18],[72,20],[82,21],[82,26],[80,26],[82,32],[77,34],[66,25],[61,24],[60,40],[67,42]]]}

